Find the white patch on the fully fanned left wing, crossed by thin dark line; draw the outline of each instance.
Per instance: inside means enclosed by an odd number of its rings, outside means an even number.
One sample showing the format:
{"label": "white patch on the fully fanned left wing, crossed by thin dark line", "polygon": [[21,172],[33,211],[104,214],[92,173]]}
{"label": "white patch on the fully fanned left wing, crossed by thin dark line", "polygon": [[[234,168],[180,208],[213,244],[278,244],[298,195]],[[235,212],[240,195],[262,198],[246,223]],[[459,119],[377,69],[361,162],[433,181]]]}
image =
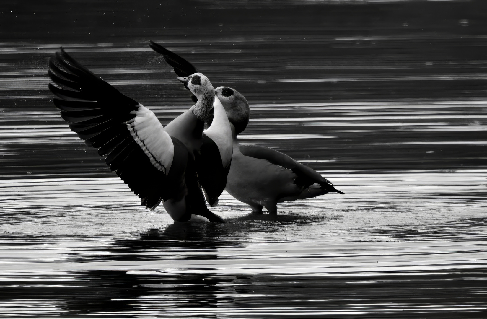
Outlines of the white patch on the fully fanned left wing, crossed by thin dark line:
{"label": "white patch on the fully fanned left wing, crossed by thin dark line", "polygon": [[156,169],[169,174],[174,156],[171,137],[164,131],[157,116],[142,104],[131,114],[135,114],[135,117],[127,122],[127,129],[133,139],[144,150]]}

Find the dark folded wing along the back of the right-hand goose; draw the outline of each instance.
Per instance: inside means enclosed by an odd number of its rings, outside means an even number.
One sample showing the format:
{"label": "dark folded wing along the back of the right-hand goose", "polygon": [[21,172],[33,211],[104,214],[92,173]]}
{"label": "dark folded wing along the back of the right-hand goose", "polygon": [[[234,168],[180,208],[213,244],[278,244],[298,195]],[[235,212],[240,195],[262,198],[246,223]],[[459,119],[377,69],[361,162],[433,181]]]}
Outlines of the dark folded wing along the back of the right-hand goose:
{"label": "dark folded wing along the back of the right-hand goose", "polygon": [[245,156],[264,159],[285,169],[291,169],[298,176],[295,183],[304,186],[305,188],[318,183],[321,188],[343,194],[343,192],[333,187],[333,184],[321,176],[316,170],[298,163],[296,160],[280,151],[258,145],[241,145],[239,150]]}

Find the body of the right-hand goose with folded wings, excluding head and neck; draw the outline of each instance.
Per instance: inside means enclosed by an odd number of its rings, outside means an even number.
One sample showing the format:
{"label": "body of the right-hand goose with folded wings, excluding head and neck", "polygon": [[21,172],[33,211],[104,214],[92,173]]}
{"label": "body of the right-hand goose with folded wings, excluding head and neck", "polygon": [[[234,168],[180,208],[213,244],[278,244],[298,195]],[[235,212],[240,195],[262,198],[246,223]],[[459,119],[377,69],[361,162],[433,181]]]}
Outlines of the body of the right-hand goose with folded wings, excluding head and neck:
{"label": "body of the right-hand goose with folded wings, excluding head and neck", "polygon": [[277,203],[316,197],[337,190],[317,171],[291,157],[263,146],[234,141],[232,166],[225,190],[262,213],[265,207],[277,213]]}

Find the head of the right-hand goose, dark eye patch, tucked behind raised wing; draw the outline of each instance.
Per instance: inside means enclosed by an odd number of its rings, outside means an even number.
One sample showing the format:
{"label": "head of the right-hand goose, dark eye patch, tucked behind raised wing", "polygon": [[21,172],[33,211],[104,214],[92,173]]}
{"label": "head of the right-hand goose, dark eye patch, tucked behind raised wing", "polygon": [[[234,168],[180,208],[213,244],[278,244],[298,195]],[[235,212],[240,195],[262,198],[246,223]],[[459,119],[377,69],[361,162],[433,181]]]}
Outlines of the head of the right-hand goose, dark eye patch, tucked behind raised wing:
{"label": "head of the right-hand goose, dark eye patch, tucked behind raised wing", "polygon": [[226,86],[220,86],[215,91],[225,108],[228,121],[235,127],[235,133],[244,131],[250,118],[250,108],[244,95]]}

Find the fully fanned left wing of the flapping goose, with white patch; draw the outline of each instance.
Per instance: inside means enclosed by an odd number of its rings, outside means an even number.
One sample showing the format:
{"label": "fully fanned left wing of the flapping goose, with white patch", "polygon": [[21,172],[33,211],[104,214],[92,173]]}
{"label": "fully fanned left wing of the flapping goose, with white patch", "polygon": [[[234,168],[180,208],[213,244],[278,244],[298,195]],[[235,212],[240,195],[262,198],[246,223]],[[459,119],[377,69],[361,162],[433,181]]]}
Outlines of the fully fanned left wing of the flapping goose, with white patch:
{"label": "fully fanned left wing of the flapping goose, with white patch", "polygon": [[[154,209],[163,199],[182,198],[184,181],[177,179],[184,179],[187,150],[169,137],[154,113],[62,49],[49,59],[49,76],[56,84],[50,83],[49,89],[56,95],[54,104],[61,117],[105,156],[110,169],[139,195],[142,205]],[[178,158],[175,165],[173,157]]]}

